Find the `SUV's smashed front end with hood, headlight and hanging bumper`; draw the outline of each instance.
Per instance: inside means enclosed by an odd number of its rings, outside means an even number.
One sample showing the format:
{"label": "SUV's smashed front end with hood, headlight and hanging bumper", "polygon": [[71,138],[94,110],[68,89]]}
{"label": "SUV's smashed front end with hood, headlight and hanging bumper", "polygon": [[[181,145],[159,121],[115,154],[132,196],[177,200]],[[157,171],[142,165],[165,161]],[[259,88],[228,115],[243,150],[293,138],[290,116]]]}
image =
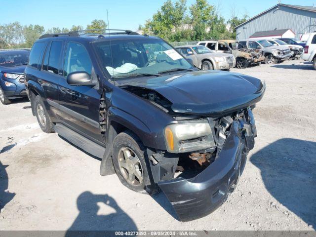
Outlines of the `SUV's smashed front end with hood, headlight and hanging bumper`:
{"label": "SUV's smashed front end with hood, headlight and hanging bumper", "polygon": [[174,118],[164,128],[166,149],[147,148],[147,155],[153,180],[179,220],[213,212],[234,190],[254,147],[252,109],[265,83],[241,74],[198,71],[135,80],[123,88]]}

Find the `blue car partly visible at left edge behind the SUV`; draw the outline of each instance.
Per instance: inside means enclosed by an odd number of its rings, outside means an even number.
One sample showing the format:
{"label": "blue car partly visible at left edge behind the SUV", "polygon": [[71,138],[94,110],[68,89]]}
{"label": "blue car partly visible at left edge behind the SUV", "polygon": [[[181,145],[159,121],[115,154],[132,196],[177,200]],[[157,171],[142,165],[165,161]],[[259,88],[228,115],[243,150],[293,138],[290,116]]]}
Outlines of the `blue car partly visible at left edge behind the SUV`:
{"label": "blue car partly visible at left edge behind the SUV", "polygon": [[29,60],[29,50],[0,51],[0,101],[3,105],[12,99],[27,97],[24,69]]}

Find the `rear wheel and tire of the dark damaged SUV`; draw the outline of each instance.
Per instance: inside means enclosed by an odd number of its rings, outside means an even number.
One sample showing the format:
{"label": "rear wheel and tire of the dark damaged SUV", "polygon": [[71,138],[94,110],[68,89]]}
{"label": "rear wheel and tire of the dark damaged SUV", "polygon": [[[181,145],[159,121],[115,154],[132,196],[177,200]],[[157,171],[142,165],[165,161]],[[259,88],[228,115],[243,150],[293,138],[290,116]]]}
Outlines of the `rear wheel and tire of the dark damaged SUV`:
{"label": "rear wheel and tire of the dark damaged SUV", "polygon": [[40,96],[37,95],[32,104],[34,106],[35,115],[38,119],[40,129],[46,133],[54,132],[54,124],[51,122],[51,119]]}

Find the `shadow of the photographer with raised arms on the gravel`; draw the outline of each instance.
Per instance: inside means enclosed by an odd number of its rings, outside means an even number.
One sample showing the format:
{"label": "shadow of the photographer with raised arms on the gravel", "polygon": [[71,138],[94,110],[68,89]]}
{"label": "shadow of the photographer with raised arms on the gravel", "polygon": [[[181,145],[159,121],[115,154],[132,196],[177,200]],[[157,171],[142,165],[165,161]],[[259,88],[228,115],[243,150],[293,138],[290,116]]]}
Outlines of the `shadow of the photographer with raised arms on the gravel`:
{"label": "shadow of the photographer with raised arms on the gravel", "polygon": [[[110,214],[102,214],[101,206],[106,206],[107,212]],[[96,195],[91,192],[83,192],[77,198],[77,207],[79,214],[68,229],[66,237],[70,236],[81,236],[87,233],[85,232],[96,232],[97,231],[118,231],[128,230],[137,231],[136,224],[117,204],[114,198],[105,195]],[[101,213],[98,213],[100,212]],[[82,231],[80,234],[78,231]],[[115,236],[115,232],[101,233],[103,236]],[[113,235],[112,235],[113,234]],[[91,233],[89,233],[91,236]]]}

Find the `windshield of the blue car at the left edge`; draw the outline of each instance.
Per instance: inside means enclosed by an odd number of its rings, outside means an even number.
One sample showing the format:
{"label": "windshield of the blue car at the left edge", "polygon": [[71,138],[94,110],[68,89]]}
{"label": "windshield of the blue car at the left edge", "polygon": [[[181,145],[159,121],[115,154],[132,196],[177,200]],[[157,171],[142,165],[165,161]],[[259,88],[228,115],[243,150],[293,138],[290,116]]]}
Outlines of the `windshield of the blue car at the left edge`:
{"label": "windshield of the blue car at the left edge", "polygon": [[5,52],[0,53],[0,66],[13,67],[27,65],[30,53]]}

